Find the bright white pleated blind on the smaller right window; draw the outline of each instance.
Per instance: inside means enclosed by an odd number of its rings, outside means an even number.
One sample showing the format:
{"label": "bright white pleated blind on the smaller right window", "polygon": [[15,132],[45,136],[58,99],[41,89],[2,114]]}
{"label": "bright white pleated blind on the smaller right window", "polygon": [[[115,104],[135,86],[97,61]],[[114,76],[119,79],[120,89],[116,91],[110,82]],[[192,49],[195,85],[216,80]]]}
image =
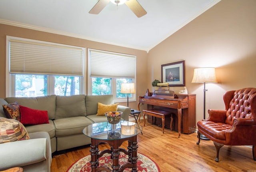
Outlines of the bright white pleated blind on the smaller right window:
{"label": "bright white pleated blind on the smaller right window", "polygon": [[136,56],[89,49],[90,76],[135,78]]}

